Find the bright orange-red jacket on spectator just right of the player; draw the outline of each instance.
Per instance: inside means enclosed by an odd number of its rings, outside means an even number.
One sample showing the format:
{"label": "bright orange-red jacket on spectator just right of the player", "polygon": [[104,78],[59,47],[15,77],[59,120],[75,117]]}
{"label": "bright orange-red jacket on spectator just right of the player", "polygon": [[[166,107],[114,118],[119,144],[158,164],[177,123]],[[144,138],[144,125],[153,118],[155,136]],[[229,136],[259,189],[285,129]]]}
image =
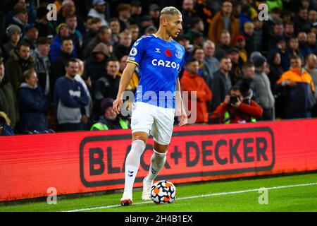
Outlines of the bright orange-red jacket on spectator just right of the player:
{"label": "bright orange-red jacket on spectator just right of the player", "polygon": [[[212,93],[208,85],[199,75],[194,75],[185,70],[180,79],[180,85],[183,91],[189,91],[188,109],[192,111],[191,107],[197,104],[197,119],[196,122],[208,122],[208,107],[207,101],[211,100]],[[190,100],[190,92],[197,91],[197,103]]]}

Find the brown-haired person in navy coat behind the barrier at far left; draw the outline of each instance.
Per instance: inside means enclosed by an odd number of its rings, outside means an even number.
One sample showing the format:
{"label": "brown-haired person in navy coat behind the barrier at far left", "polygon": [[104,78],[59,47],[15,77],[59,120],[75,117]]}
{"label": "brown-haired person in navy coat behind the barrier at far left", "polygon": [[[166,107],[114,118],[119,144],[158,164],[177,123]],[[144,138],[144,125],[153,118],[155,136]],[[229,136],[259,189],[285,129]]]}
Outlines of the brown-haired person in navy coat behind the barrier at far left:
{"label": "brown-haired person in navy coat behind the barrier at far left", "polygon": [[20,107],[19,131],[45,131],[49,129],[46,112],[49,110],[49,99],[37,85],[37,73],[33,69],[24,73],[25,82],[18,90]]}

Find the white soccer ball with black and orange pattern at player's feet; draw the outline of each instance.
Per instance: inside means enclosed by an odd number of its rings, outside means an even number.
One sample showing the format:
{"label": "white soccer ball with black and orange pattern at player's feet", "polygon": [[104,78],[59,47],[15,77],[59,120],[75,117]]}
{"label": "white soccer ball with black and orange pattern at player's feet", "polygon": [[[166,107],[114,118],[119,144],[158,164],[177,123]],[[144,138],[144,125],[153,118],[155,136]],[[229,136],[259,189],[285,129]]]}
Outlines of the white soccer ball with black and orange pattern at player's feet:
{"label": "white soccer ball with black and orange pattern at player's feet", "polygon": [[156,204],[173,203],[176,198],[176,188],[172,182],[163,180],[151,187],[151,200]]}

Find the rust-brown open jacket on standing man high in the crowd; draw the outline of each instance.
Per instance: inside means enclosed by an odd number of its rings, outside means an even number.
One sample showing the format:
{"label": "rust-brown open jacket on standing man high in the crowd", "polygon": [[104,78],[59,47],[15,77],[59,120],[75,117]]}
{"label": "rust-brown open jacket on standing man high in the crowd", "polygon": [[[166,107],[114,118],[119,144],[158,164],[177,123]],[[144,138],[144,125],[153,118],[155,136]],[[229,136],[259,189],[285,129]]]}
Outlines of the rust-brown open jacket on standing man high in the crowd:
{"label": "rust-brown open jacket on standing man high in the crowd", "polygon": [[[233,45],[235,42],[235,38],[239,35],[239,21],[235,16],[231,16],[230,18],[230,38],[231,42],[230,45]],[[215,44],[217,44],[220,40],[221,32],[223,32],[223,29],[225,29],[225,24],[223,21],[223,13],[220,11],[216,13],[216,15],[211,20],[211,23],[209,25],[209,32],[208,37],[211,41],[213,41]]]}

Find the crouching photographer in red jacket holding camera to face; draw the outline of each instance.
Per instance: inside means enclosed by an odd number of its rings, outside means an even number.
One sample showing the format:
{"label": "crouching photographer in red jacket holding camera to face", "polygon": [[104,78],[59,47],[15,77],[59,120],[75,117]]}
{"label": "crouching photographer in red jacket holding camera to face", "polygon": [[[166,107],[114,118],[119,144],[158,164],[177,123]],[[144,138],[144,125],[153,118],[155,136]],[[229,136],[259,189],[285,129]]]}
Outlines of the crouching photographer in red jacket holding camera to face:
{"label": "crouching photographer in red jacket holding camera to face", "polygon": [[255,122],[261,118],[263,109],[251,97],[249,83],[232,87],[211,118],[220,117],[223,124]]}

